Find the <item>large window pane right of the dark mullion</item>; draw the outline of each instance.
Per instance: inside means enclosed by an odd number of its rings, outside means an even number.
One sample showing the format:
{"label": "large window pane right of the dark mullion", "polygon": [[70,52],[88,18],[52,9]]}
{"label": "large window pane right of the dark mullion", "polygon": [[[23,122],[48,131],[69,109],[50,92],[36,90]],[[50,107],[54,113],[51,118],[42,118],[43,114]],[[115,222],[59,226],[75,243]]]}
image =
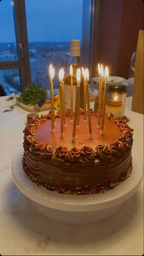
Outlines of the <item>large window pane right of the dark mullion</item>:
{"label": "large window pane right of the dark mullion", "polygon": [[70,40],[82,40],[82,0],[26,0],[31,78],[49,89],[49,64],[55,67],[54,87],[60,68],[68,71]]}

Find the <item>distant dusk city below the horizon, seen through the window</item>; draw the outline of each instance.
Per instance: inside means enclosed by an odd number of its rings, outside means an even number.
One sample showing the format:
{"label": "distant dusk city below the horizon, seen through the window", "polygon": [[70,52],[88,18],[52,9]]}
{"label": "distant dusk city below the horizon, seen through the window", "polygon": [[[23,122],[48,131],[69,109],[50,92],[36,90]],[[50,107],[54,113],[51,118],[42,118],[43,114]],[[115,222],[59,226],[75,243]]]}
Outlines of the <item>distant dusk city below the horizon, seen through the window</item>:
{"label": "distant dusk city below the horizon, seen through the window", "polygon": [[[68,60],[70,59],[70,44],[67,42],[42,42],[29,43],[29,61],[31,67],[31,82],[49,89],[49,65],[55,68],[54,88],[59,87],[59,69],[64,68],[68,72]],[[5,43],[0,46],[0,62],[18,60],[16,45]],[[8,94],[20,93],[19,69],[1,70],[0,82],[4,84]]]}

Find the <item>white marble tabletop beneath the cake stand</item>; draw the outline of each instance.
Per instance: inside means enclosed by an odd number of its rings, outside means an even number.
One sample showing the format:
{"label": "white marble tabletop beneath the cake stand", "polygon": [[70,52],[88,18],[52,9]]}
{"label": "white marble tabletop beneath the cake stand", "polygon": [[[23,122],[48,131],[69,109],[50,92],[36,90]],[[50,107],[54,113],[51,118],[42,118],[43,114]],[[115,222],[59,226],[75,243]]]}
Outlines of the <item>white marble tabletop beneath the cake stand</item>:
{"label": "white marble tabletop beneath the cake stand", "polygon": [[[4,97],[0,97],[0,102]],[[134,128],[134,150],[143,161],[143,115],[125,114]],[[38,214],[12,180],[11,164],[23,145],[28,112],[0,104],[0,254],[2,255],[142,255],[143,185],[114,216],[87,225],[52,221]],[[46,112],[46,111],[44,111]],[[43,112],[43,113],[44,113]],[[113,191],[114,192],[114,191]]]}

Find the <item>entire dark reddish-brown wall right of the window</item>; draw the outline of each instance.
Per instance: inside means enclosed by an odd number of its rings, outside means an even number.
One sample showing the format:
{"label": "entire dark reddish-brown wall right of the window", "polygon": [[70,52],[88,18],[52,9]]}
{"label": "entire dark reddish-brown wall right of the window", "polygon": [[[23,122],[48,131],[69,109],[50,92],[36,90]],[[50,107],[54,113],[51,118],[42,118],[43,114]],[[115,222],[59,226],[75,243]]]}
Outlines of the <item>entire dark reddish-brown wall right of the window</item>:
{"label": "entire dark reddish-brown wall right of the window", "polygon": [[101,0],[99,9],[98,54],[93,67],[103,63],[110,75],[128,78],[139,30],[143,30],[143,1]]}

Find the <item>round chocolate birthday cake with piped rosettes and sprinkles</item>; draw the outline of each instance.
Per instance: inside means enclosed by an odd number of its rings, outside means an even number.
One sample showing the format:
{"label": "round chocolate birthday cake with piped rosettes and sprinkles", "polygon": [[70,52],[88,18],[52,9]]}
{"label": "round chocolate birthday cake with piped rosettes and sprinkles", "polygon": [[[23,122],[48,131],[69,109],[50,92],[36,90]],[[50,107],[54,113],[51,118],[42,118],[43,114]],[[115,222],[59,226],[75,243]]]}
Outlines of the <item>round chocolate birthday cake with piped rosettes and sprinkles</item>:
{"label": "round chocolate birthday cake with piped rosettes and sprinkles", "polygon": [[132,128],[128,119],[105,116],[104,135],[97,128],[98,116],[91,112],[93,139],[80,109],[80,126],[71,142],[73,123],[66,111],[67,128],[60,137],[60,112],[51,133],[51,112],[32,120],[24,129],[23,169],[38,186],[65,194],[94,194],[112,189],[131,175]]}

